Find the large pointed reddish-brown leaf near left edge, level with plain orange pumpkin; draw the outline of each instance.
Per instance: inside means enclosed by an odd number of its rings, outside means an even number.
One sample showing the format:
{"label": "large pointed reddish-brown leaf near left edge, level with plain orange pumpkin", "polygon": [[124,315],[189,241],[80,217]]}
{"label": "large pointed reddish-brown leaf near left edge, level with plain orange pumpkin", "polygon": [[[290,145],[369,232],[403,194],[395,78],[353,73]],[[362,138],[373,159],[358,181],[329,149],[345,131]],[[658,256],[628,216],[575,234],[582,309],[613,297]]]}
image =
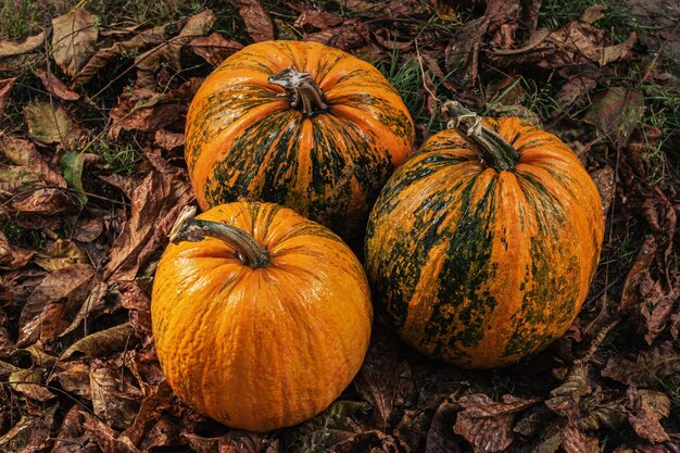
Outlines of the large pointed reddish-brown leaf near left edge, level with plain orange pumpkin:
{"label": "large pointed reddish-brown leaf near left edge, level with plain orange pumpkin", "polygon": [[95,269],[87,264],[74,264],[48,274],[22,310],[16,344],[26,347],[38,339],[58,336],[87,298],[93,278]]}

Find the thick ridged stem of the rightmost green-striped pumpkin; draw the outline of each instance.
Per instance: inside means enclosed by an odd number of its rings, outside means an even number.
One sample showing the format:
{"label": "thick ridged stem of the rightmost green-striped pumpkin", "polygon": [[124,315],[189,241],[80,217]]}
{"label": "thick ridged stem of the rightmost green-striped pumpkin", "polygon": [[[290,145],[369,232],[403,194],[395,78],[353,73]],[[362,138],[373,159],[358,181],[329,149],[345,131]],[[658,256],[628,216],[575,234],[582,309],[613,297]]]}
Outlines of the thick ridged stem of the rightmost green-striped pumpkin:
{"label": "thick ridged stem of the rightmost green-striped pumpkin", "polygon": [[477,113],[457,101],[444,102],[442,113],[449,119],[449,127],[455,129],[488,165],[499,172],[515,166],[519,159],[517,150],[495,130],[484,126]]}

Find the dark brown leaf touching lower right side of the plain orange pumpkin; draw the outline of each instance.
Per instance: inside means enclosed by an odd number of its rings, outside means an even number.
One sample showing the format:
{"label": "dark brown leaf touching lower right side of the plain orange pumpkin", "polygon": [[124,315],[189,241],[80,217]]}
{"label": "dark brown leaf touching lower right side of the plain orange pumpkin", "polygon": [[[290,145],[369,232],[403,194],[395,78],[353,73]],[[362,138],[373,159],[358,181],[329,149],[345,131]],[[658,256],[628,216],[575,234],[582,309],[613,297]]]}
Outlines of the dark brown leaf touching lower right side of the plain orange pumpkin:
{"label": "dark brown leaf touching lower right side of the plain orange pumpkin", "polygon": [[413,393],[411,366],[396,350],[392,334],[376,330],[354,387],[358,394],[376,407],[385,429],[395,406]]}

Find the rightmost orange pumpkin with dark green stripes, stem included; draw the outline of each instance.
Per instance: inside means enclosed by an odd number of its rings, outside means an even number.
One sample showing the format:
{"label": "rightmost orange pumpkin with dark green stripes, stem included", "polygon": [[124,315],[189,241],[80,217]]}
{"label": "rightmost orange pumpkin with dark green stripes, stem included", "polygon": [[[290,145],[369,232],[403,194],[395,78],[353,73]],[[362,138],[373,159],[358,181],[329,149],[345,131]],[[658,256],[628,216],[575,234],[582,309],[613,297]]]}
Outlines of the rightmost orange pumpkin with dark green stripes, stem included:
{"label": "rightmost orange pumpkin with dark green stripes, stem included", "polygon": [[401,337],[464,367],[520,361],[561,337],[594,276],[597,189],[557,137],[445,104],[454,128],[389,179],[368,221],[368,279]]}

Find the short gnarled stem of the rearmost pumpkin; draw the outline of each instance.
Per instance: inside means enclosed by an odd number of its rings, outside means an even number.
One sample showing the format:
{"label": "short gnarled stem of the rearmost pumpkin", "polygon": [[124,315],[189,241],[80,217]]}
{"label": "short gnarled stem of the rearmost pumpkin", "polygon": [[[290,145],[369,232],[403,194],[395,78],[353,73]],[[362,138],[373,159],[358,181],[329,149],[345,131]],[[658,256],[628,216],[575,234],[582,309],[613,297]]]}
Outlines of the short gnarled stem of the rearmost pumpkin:
{"label": "short gnarled stem of the rearmost pumpkin", "polygon": [[282,96],[288,97],[290,106],[300,110],[305,116],[312,116],[328,109],[324,100],[324,91],[316,85],[312,74],[290,66],[267,79],[272,85],[278,85],[286,90]]}

